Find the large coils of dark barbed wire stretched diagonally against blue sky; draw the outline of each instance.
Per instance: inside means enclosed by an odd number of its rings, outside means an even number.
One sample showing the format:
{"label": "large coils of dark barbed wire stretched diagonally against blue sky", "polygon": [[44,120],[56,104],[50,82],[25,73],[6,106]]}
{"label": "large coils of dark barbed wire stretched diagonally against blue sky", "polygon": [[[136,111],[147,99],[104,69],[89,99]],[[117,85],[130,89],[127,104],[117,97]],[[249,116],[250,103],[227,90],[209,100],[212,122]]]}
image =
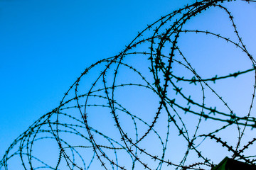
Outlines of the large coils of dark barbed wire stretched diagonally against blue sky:
{"label": "large coils of dark barbed wire stretched diagonally against blue sky", "polygon": [[[87,67],[60,105],[14,140],[0,169],[211,169],[225,156],[255,164],[256,138],[246,135],[256,128],[255,59],[222,2],[200,1],[162,16],[119,55]],[[228,17],[233,39],[186,28],[211,8]],[[180,46],[189,35],[225,42],[250,64],[209,77]],[[223,56],[215,57],[218,63]],[[247,108],[234,111],[222,82],[246,76],[252,96]]]}

